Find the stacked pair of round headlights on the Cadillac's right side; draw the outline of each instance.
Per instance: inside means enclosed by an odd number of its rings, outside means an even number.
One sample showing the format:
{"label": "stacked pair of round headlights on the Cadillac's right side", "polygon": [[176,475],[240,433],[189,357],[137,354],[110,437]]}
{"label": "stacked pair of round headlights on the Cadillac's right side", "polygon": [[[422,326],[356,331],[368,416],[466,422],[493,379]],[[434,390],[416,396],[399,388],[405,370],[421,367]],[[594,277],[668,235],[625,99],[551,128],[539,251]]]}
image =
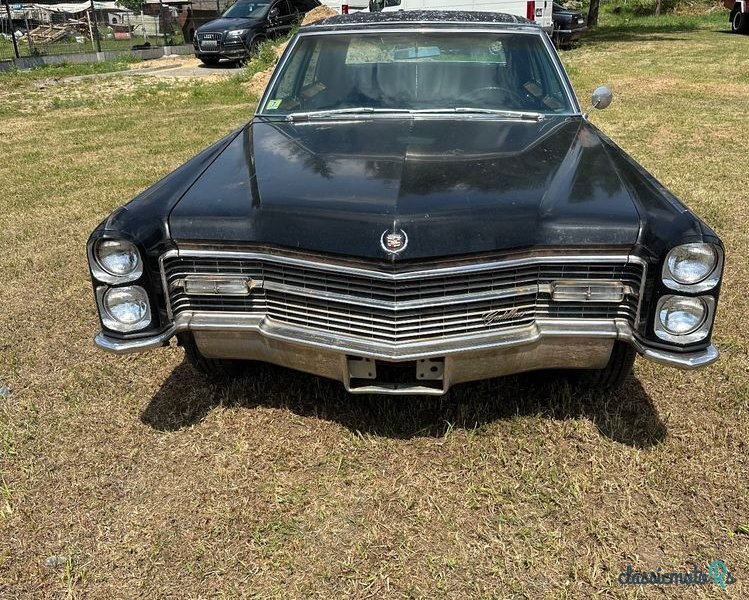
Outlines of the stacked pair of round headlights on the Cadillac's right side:
{"label": "stacked pair of round headlights on the Cadillac's right side", "polygon": [[720,283],[722,269],[723,255],[714,244],[683,244],[668,253],[663,283],[682,293],[667,294],[658,301],[655,334],[659,338],[693,344],[708,336],[715,315],[715,296],[705,292]]}

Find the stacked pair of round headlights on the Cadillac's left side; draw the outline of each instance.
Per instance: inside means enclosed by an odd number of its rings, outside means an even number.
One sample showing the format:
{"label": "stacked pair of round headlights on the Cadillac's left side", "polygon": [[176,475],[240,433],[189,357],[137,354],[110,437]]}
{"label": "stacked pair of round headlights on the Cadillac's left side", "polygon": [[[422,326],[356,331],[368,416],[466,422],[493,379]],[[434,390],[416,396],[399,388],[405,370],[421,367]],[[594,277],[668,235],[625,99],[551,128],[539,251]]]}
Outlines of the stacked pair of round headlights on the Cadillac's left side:
{"label": "stacked pair of round headlights on the Cadillac's left side", "polygon": [[143,275],[143,260],[135,244],[127,240],[101,239],[89,254],[94,278],[109,285],[97,286],[101,322],[107,329],[128,333],[151,323],[148,294],[139,285],[124,285]]}

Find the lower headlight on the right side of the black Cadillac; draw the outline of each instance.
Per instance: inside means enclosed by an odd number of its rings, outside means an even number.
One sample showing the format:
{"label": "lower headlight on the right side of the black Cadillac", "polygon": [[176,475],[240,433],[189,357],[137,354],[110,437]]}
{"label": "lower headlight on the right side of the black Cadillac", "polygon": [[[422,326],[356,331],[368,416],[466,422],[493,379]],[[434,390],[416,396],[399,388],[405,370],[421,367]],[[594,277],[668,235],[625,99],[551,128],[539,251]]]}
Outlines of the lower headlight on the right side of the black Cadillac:
{"label": "lower headlight on the right side of the black Cadillac", "polygon": [[655,334],[669,342],[699,342],[710,332],[714,308],[712,296],[663,296],[656,309]]}

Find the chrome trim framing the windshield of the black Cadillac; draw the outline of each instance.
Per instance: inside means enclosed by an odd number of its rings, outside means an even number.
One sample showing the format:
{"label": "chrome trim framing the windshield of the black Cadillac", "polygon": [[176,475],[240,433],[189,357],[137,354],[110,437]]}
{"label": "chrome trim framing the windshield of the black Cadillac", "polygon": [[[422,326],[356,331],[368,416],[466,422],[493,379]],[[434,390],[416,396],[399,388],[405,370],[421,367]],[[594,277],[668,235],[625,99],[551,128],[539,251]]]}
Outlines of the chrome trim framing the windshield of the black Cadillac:
{"label": "chrome trim framing the windshield of the black Cadillac", "polygon": [[[294,36],[294,39],[291,41],[291,43],[286,47],[286,50],[284,51],[283,55],[281,56],[281,60],[276,65],[275,70],[273,71],[273,76],[271,77],[271,80],[268,82],[268,85],[265,88],[265,91],[263,92],[263,95],[260,98],[260,102],[257,104],[257,108],[255,110],[255,116],[256,117],[270,117],[270,118],[280,118],[281,116],[285,115],[277,115],[274,113],[265,113],[263,112],[265,110],[265,104],[269,100],[270,91],[273,89],[273,87],[276,84],[276,80],[278,79],[279,74],[286,66],[286,63],[289,60],[289,57],[291,56],[294,48],[296,48],[297,44],[299,43],[299,40],[301,40],[304,37],[309,36],[321,36],[321,35],[351,35],[351,34],[363,34],[363,35],[369,35],[369,34],[381,34],[381,33],[392,33],[399,30],[406,30],[408,32],[413,33],[440,33],[440,32],[465,32],[465,33],[500,33],[500,34],[507,34],[507,33],[516,33],[516,34],[523,34],[523,35],[536,35],[541,36],[543,39],[541,43],[543,44],[544,48],[546,48],[546,52],[549,54],[549,57],[551,58],[551,62],[554,65],[554,68],[556,69],[557,75],[559,76],[562,87],[564,88],[565,92],[567,93],[567,99],[570,102],[570,106],[573,109],[573,112],[571,113],[550,113],[545,114],[547,117],[571,117],[571,116],[583,116],[583,112],[580,109],[580,103],[577,100],[577,96],[575,95],[574,89],[572,88],[572,84],[569,81],[569,78],[567,77],[567,73],[564,70],[564,67],[562,66],[562,62],[559,58],[559,55],[557,54],[556,50],[554,49],[554,45],[551,42],[551,39],[549,38],[548,34],[546,34],[543,29],[540,29],[536,25],[521,25],[517,23],[496,23],[493,26],[484,26],[484,27],[460,27],[456,26],[462,21],[445,21],[444,26],[438,26],[438,25],[432,25],[432,26],[426,26],[426,27],[408,27],[409,25],[408,21],[400,21],[400,22],[394,22],[390,23],[390,25],[395,25],[394,27],[380,27],[378,25],[373,25],[372,28],[359,28],[360,26],[354,25],[354,27],[350,27],[348,25],[341,25],[340,29],[328,29],[324,31],[300,31]],[[403,25],[406,25],[406,27],[403,27]],[[348,28],[347,28],[348,27]],[[293,113],[291,113],[293,114]],[[372,116],[372,115],[368,115]],[[406,115],[407,116],[407,115]],[[453,115],[454,116],[454,115]]]}

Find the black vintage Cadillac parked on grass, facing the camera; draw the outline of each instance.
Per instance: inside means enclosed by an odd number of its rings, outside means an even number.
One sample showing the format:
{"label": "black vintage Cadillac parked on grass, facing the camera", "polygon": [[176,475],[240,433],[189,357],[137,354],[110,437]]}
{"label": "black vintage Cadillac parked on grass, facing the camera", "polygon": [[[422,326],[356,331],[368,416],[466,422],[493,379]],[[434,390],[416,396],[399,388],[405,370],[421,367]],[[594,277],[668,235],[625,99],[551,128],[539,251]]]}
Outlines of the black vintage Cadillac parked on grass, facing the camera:
{"label": "black vintage Cadillac parked on grass, facing the camera", "polygon": [[721,241],[587,120],[548,36],[510,15],[302,28],[252,120],[112,213],[88,258],[101,348],[176,337],[211,373],[266,361],[442,394],[718,358]]}

